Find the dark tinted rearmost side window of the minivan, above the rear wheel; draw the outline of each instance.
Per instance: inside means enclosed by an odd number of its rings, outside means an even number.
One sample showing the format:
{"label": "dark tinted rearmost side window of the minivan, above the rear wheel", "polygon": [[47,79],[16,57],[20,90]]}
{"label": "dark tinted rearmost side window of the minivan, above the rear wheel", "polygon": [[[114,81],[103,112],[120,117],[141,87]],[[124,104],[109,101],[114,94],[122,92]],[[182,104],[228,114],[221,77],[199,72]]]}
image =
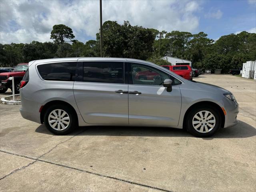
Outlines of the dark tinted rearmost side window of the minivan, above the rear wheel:
{"label": "dark tinted rearmost side window of the minivan, above the rear wheel", "polygon": [[44,80],[74,81],[76,74],[76,62],[49,63],[37,68]]}

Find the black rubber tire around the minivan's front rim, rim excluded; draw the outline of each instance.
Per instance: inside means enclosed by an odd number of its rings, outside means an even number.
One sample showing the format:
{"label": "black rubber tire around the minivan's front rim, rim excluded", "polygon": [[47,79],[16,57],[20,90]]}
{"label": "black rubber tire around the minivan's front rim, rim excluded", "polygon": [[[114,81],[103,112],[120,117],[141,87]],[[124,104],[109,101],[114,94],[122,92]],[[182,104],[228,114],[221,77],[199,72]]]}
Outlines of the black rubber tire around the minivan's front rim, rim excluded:
{"label": "black rubber tire around the minivan's front rim, rim excluded", "polygon": [[[214,115],[215,118],[215,126],[212,128],[212,130],[210,132],[199,132],[197,131],[193,124],[192,124],[192,120],[194,118],[194,116],[200,112],[200,111],[208,111],[211,112]],[[216,108],[212,107],[212,106],[200,106],[198,108],[193,108],[189,113],[188,113],[188,118],[186,119],[186,128],[188,130],[188,132],[196,137],[210,137],[213,134],[215,134],[221,126],[221,115],[218,112],[218,110],[216,110]],[[208,127],[209,128],[209,127]]]}

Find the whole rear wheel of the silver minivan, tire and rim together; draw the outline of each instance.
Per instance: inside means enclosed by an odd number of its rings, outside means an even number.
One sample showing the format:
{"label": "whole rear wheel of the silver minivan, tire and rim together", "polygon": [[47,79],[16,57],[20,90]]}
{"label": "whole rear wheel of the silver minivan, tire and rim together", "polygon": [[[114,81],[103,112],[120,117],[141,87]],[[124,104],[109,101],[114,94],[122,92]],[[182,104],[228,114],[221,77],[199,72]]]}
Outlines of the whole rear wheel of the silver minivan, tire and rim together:
{"label": "whole rear wheel of the silver minivan, tire and rim together", "polygon": [[50,106],[44,114],[46,128],[56,134],[65,135],[77,127],[74,112],[68,106]]}

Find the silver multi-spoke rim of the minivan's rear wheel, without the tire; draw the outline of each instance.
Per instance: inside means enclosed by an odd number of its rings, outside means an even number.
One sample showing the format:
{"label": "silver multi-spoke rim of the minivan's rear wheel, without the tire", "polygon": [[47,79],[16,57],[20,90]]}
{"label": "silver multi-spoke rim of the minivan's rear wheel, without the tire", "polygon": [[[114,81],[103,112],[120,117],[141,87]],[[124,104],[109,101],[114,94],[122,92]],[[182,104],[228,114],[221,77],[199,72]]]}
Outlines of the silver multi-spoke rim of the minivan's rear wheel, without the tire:
{"label": "silver multi-spoke rim of the minivan's rear wheel, without the tire", "polygon": [[55,109],[48,116],[49,125],[57,131],[65,130],[70,124],[70,117],[62,109]]}

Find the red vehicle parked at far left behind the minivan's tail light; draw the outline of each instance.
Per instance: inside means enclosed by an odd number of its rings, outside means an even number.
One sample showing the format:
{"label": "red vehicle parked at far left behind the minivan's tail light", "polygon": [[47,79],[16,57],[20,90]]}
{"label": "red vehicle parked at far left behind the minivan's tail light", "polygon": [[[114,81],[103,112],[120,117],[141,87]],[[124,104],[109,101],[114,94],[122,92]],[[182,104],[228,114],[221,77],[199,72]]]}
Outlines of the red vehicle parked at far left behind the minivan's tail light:
{"label": "red vehicle parked at far left behind the minivan's tail light", "polygon": [[14,90],[15,94],[18,94],[20,92],[20,81],[27,69],[28,63],[21,63],[12,72],[0,73],[0,93],[6,92],[8,88],[12,90],[12,77],[14,77]]}

